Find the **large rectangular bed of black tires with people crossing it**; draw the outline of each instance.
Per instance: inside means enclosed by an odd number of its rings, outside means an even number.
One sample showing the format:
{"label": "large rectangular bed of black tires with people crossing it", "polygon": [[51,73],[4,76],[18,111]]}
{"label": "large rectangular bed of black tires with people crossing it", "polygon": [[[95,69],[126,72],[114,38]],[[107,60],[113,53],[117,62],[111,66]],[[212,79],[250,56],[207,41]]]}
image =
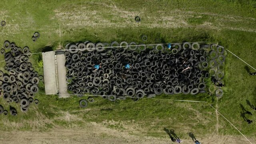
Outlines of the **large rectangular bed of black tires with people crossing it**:
{"label": "large rectangular bed of black tires with people crossing it", "polygon": [[[126,97],[136,101],[162,93],[205,92],[207,72],[203,73],[199,65],[206,61],[208,52],[198,43],[172,44],[168,50],[162,44],[86,41],[69,43],[65,48],[68,90],[78,96],[90,93],[110,101]],[[95,64],[101,65],[97,71]],[[131,68],[124,68],[125,64]]]}

